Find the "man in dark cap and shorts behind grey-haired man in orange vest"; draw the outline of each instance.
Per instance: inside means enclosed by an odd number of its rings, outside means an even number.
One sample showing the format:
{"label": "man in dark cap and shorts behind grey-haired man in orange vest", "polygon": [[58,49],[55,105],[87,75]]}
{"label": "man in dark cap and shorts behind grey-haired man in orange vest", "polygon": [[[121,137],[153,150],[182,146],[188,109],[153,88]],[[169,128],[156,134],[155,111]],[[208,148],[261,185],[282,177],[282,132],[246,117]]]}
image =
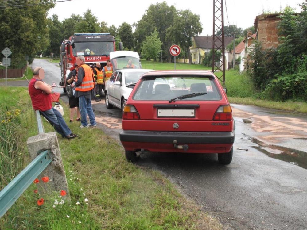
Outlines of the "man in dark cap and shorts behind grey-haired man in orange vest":
{"label": "man in dark cap and shorts behind grey-haired man in orange vest", "polygon": [[[75,66],[75,69],[69,73],[66,79],[66,82],[68,85],[71,85],[73,82],[76,81],[77,71],[79,67],[76,62],[74,66]],[[75,98],[75,87],[70,86],[68,94],[69,94],[69,119],[70,119],[69,122],[74,121],[75,112],[77,112],[76,121],[81,121],[80,119],[81,115],[79,111],[79,98]]]}

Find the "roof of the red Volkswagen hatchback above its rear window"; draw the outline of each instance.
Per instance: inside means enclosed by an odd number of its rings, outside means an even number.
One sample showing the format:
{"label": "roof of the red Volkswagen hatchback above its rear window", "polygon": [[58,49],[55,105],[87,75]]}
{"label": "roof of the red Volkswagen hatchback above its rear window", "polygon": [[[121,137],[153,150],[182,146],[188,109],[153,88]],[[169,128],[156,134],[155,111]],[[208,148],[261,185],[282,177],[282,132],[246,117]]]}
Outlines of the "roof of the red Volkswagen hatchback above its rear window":
{"label": "roof of the red Volkswagen hatchback above its rear window", "polygon": [[208,70],[156,70],[153,72],[148,72],[145,73],[142,78],[146,76],[154,76],[154,77],[159,77],[159,76],[165,76],[165,75],[211,75],[214,76],[212,71]]}

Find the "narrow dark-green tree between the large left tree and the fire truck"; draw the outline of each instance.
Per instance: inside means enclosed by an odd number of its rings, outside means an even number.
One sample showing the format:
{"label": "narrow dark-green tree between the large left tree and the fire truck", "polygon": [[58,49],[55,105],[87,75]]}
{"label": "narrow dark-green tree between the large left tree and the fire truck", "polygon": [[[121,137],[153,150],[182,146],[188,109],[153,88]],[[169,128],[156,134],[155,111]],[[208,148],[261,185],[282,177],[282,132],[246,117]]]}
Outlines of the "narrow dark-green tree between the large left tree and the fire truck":
{"label": "narrow dark-green tree between the large left tree and the fire truck", "polygon": [[50,44],[47,48],[47,54],[53,53],[55,56],[59,55],[60,44],[64,40],[63,36],[63,24],[59,21],[56,14],[52,15],[52,18],[48,19],[49,39]]}

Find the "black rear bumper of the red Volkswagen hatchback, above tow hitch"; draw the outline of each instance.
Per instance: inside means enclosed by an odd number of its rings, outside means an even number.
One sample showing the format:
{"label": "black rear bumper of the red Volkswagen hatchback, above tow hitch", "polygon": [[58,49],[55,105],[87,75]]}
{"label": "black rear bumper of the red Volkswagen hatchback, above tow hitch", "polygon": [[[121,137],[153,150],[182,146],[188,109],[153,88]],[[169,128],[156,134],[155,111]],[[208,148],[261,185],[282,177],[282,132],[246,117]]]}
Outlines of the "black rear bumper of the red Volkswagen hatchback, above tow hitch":
{"label": "black rear bumper of the red Volkswagen hatchback, above tow hitch", "polygon": [[232,132],[157,132],[123,130],[119,134],[121,142],[171,143],[177,140],[182,144],[233,144]]}

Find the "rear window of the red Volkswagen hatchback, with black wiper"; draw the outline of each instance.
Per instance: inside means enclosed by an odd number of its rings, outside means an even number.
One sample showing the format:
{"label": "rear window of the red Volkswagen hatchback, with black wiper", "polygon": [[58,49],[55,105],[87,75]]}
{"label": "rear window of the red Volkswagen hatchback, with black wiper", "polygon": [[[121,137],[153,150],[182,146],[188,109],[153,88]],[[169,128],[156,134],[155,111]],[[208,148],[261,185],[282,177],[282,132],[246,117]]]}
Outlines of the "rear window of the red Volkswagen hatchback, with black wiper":
{"label": "rear window of the red Volkswagen hatchback, with black wiper", "polygon": [[221,94],[212,76],[148,76],[141,79],[133,100],[170,100],[191,93],[205,93],[183,101],[216,101]]}

